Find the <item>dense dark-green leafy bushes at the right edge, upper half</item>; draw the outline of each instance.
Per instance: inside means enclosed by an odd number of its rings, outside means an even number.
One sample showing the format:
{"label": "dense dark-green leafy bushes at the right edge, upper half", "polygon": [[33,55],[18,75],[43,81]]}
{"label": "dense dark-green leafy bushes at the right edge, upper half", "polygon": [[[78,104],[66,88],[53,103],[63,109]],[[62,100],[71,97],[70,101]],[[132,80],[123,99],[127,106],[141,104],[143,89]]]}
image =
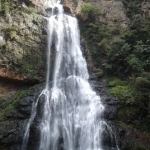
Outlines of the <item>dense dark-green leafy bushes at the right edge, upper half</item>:
{"label": "dense dark-green leafy bushes at the right edge, upper half", "polygon": [[[114,39],[107,53],[112,69],[118,75],[137,76],[149,71],[150,65],[150,23],[135,15],[123,34]],[[121,64],[121,65],[120,65]]]}

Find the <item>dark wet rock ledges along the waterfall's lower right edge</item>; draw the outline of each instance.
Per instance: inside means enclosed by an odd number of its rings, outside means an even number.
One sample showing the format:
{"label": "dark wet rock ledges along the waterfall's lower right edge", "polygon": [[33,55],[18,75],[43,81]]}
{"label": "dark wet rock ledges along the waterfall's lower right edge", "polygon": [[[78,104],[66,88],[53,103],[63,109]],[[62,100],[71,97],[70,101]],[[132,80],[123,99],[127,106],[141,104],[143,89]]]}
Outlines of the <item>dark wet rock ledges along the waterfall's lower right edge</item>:
{"label": "dark wet rock ledges along the waterfall's lower right edge", "polygon": [[[119,133],[119,126],[113,123],[113,121],[116,117],[116,104],[118,99],[106,93],[107,91],[107,87],[105,83],[106,81],[97,82],[97,77],[92,75],[90,77],[90,82],[94,90],[98,93],[98,95],[100,95],[101,101],[105,106],[105,110],[102,115],[102,120],[104,120],[102,125],[104,130],[101,133],[102,148],[104,150],[117,150],[117,147],[120,146],[118,135],[117,135]],[[112,124],[114,124],[116,128],[112,128]]]}

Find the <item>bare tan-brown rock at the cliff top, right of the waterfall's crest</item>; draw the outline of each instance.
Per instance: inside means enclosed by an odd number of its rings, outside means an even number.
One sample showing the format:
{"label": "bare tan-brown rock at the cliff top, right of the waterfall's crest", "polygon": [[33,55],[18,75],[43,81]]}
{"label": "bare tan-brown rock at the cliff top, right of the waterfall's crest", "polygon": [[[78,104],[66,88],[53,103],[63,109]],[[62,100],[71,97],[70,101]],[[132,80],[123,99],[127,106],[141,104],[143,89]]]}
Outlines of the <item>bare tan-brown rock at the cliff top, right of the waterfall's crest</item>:
{"label": "bare tan-brown rock at the cliff top, right of the waterfall's crest", "polygon": [[100,15],[98,16],[100,22],[108,23],[109,25],[113,25],[114,22],[120,22],[123,26],[127,26],[129,23],[120,0],[64,0],[64,6],[75,14],[80,12],[83,3],[89,3],[100,9]]}

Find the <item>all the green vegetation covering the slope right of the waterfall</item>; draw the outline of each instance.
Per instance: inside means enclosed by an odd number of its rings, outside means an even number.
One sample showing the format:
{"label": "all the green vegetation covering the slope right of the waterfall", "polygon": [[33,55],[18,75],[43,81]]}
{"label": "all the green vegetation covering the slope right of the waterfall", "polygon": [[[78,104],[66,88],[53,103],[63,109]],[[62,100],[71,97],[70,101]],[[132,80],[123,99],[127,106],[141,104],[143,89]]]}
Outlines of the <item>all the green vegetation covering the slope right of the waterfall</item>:
{"label": "all the green vegetation covering the slope right of the waterfall", "polygon": [[81,36],[94,60],[96,74],[108,78],[109,92],[118,97],[121,109],[127,107],[119,119],[130,112],[122,121],[149,132],[150,16],[143,14],[142,0],[121,1],[130,20],[128,27],[122,28],[119,22],[109,27],[97,18],[80,18]]}

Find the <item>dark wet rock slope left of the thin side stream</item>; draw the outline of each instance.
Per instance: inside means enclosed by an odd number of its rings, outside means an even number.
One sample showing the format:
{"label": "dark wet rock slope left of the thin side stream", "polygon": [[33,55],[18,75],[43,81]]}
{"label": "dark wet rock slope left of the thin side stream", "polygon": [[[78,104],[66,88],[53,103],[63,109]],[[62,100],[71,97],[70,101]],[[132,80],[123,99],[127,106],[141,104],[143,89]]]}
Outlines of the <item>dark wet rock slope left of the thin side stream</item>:
{"label": "dark wet rock slope left of the thin side stream", "polygon": [[[29,91],[27,94],[23,94],[19,99],[15,100],[13,106],[11,105],[4,109],[7,111],[3,116],[2,114],[0,116],[3,117],[3,120],[0,122],[1,150],[21,149],[26,124],[32,111],[32,103],[36,101],[41,88],[43,88],[43,85],[40,85],[40,88]],[[33,131],[34,128],[32,130],[33,134],[31,134],[34,136],[32,142],[36,142],[38,136]]]}

